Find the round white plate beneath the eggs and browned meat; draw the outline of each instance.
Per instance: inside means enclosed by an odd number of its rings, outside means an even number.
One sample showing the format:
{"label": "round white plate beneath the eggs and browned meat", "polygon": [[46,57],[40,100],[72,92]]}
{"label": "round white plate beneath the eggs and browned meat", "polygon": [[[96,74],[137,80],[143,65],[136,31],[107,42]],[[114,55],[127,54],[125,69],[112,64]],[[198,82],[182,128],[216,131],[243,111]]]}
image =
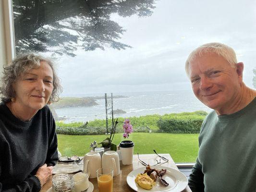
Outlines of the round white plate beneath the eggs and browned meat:
{"label": "round white plate beneath the eggs and browned meat", "polygon": [[188,180],[186,176],[181,173],[180,171],[174,169],[174,168],[168,168],[163,166],[150,166],[151,168],[156,168],[158,170],[161,170],[162,168],[166,169],[166,173],[162,177],[166,182],[169,183],[167,187],[159,183],[159,180],[156,181],[156,185],[150,189],[146,190],[141,188],[136,182],[135,178],[139,173],[144,173],[146,170],[146,167],[137,168],[130,172],[126,178],[126,181],[128,185],[136,192],[181,192],[183,191],[187,184]]}

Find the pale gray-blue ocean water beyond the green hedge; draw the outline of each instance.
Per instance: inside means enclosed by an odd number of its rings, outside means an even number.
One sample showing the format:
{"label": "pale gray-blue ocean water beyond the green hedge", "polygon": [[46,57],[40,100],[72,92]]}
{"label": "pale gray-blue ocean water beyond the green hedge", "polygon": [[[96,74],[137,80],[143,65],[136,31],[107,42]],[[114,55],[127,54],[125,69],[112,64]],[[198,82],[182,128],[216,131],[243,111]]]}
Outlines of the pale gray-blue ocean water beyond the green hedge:
{"label": "pale gray-blue ocean water beyond the green hedge", "polygon": [[[83,94],[83,96],[104,96],[104,94]],[[110,96],[110,93],[108,94]],[[136,92],[136,93],[113,93],[113,96],[126,96],[113,98],[113,110],[122,109],[126,113],[114,114],[117,117],[139,117],[144,115],[180,112],[193,112],[196,110],[211,111],[212,109],[202,104],[190,90],[183,91],[158,91],[158,92]],[[69,107],[55,109],[58,117],[65,123],[76,121],[90,121],[95,119],[106,119],[105,99],[97,99],[97,106],[91,107]],[[108,108],[111,101],[108,99]],[[109,109],[109,112],[111,110]],[[111,115],[108,114],[111,118]]]}

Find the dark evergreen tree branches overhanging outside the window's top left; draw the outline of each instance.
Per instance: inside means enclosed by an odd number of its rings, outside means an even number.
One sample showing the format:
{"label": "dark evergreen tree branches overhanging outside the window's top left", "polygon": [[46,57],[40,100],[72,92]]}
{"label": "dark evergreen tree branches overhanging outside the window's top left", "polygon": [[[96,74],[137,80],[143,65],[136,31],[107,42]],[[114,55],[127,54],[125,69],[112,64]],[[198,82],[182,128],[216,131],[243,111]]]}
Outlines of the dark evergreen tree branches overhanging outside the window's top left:
{"label": "dark evergreen tree branches overhanging outside the window's top left", "polygon": [[17,54],[49,51],[72,57],[78,48],[131,48],[120,42],[125,29],[111,15],[146,17],[155,9],[155,0],[12,0],[12,4]]}

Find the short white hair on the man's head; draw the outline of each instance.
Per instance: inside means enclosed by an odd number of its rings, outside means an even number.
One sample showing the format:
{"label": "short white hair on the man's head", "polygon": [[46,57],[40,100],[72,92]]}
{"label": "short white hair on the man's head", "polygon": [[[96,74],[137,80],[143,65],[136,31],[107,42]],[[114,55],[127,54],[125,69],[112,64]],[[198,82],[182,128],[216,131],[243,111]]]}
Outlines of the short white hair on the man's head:
{"label": "short white hair on the man's head", "polygon": [[229,64],[234,68],[235,64],[237,63],[235,51],[222,43],[207,43],[204,45],[201,45],[200,47],[193,50],[186,60],[185,64],[185,70],[188,75],[188,66],[189,63],[191,63],[193,60],[195,60],[196,57],[201,57],[202,55],[206,53],[216,53],[217,55],[223,57],[225,60],[229,62]]}

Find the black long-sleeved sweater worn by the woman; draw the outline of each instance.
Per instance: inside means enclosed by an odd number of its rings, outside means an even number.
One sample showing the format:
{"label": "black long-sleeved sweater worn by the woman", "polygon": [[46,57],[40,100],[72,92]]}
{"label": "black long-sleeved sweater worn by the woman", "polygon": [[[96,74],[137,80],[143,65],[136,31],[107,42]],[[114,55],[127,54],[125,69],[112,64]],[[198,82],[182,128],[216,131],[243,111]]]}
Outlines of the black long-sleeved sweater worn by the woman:
{"label": "black long-sleeved sweater worn by the woman", "polygon": [[49,107],[22,121],[0,103],[0,192],[39,192],[37,169],[57,161],[57,135]]}

